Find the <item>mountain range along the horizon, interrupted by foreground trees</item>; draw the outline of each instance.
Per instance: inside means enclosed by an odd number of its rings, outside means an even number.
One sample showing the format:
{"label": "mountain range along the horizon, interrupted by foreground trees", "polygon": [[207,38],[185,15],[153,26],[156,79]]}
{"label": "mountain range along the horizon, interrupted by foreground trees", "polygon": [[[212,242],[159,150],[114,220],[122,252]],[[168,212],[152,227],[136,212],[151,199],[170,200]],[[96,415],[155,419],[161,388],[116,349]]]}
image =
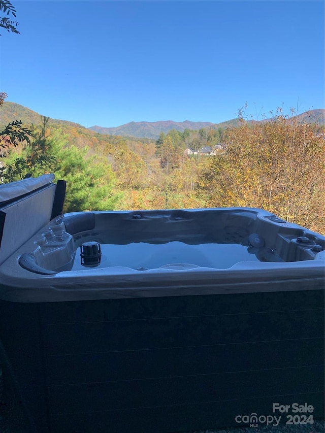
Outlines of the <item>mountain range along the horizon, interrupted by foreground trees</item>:
{"label": "mountain range along the horizon, interrupted by foreground trees", "polygon": [[[296,116],[298,123],[310,123],[317,124],[319,126],[325,126],[325,110],[317,109],[306,111],[305,113]],[[5,102],[0,108],[0,127],[7,125],[13,120],[21,120],[23,123],[38,125],[41,123],[41,115],[35,111],[30,110],[27,107],[13,103]],[[230,126],[236,126],[240,122],[238,119],[231,119],[221,123],[211,122],[191,122],[185,120],[183,122],[174,122],[173,120],[157,121],[157,122],[129,122],[124,125],[117,126],[115,128],[105,128],[102,126],[91,126],[88,130],[99,132],[100,134],[107,134],[113,136],[122,137],[136,137],[136,138],[148,138],[157,139],[160,132],[167,133],[171,129],[183,131],[184,129],[201,129],[201,128],[226,128]],[[68,120],[49,119],[49,124],[61,124],[74,126],[77,128],[85,128],[79,123],[70,122]]]}

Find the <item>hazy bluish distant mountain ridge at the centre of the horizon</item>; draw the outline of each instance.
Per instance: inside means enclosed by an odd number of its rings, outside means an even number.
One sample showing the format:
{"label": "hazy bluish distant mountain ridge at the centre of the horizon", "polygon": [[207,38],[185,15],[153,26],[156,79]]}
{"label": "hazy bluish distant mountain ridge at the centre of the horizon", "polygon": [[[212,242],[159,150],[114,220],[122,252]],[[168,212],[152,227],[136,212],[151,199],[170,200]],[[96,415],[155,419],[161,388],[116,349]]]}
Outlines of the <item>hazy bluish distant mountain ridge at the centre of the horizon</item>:
{"label": "hazy bluish distant mountain ridge at the centre of the horizon", "polygon": [[201,129],[212,126],[211,122],[191,122],[184,120],[183,122],[174,122],[173,120],[160,120],[157,122],[129,122],[116,128],[105,128],[102,126],[91,126],[91,129],[100,134],[109,134],[113,136],[127,137],[147,137],[156,139],[160,132],[167,133],[171,129],[183,132],[184,129]]}

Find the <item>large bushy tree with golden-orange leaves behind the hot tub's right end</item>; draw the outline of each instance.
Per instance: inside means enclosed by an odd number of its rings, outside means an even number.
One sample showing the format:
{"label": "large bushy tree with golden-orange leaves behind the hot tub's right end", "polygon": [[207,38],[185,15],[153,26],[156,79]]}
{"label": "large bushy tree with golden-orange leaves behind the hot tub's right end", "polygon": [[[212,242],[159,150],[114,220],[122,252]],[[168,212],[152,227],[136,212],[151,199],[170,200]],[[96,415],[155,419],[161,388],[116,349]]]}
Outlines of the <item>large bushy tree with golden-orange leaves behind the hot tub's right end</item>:
{"label": "large bushy tree with golden-orange leaves behind the hot tub's right end", "polygon": [[199,176],[208,206],[262,208],[323,231],[325,141],[312,125],[282,115],[258,123],[243,120],[224,138],[224,154],[209,158]]}

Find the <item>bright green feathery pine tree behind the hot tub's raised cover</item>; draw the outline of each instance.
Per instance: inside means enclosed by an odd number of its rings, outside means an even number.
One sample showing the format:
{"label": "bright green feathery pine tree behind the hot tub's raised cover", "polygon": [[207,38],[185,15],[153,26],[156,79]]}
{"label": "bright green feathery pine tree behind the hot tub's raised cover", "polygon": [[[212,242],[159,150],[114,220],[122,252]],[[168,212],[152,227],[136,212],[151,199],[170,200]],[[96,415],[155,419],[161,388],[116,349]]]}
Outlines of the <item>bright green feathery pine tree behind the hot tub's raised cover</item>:
{"label": "bright green feathery pine tree behind the hot tub's raised cover", "polygon": [[4,158],[0,177],[5,182],[23,179],[26,174],[54,173],[67,181],[64,212],[114,209],[120,194],[114,194],[114,174],[105,158],[86,157],[88,148],[66,146],[67,136],[60,129],[49,133],[48,118],[35,130],[34,141],[19,155]]}

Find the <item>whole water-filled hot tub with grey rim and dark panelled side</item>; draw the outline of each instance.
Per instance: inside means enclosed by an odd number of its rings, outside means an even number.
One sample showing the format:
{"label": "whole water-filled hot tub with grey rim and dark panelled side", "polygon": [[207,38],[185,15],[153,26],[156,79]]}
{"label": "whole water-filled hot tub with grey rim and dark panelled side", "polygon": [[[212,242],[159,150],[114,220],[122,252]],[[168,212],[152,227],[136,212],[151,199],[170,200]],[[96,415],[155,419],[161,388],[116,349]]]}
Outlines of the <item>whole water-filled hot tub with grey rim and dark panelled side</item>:
{"label": "whole water-filled hot tub with grey rim and dark panelled side", "polygon": [[[24,200],[57,202],[46,188]],[[31,431],[323,416],[324,237],[249,208],[50,213],[0,265],[10,404]]]}

